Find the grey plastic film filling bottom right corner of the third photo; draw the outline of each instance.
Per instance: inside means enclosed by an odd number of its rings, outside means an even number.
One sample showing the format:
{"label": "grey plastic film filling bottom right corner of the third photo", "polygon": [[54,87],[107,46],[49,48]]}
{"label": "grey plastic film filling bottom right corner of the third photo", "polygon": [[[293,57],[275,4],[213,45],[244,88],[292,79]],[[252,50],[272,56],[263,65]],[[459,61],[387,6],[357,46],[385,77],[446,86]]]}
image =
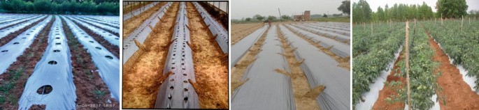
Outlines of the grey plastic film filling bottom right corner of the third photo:
{"label": "grey plastic film filling bottom right corner of the third photo", "polygon": [[[348,70],[338,67],[339,64],[334,58],[317,50],[306,40],[294,35],[284,26],[280,26],[281,31],[289,37],[292,47],[297,47],[294,54],[297,58],[304,58],[305,61],[300,65],[303,70],[310,88],[324,85],[326,88],[315,99],[321,109],[349,109],[350,108],[350,74]],[[302,59],[296,59],[302,60]]]}

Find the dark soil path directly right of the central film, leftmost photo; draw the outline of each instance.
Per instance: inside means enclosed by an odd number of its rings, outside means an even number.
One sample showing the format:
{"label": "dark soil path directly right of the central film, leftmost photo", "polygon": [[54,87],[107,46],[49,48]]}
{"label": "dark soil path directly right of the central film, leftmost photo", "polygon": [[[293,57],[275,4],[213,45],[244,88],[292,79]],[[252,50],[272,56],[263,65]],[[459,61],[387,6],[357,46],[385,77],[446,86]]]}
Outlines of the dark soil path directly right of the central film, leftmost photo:
{"label": "dark soil path directly right of the central film, leftmost photo", "polygon": [[[73,83],[76,87],[77,96],[76,104],[109,104],[106,100],[110,100],[111,104],[115,104],[114,107],[77,107],[77,109],[120,109],[120,103],[110,97],[108,86],[103,82],[99,73],[96,72],[98,68],[95,67],[92,56],[83,48],[78,39],[73,36],[64,19],[62,19],[62,26],[71,54]],[[95,95],[94,91],[104,92],[104,94]]]}

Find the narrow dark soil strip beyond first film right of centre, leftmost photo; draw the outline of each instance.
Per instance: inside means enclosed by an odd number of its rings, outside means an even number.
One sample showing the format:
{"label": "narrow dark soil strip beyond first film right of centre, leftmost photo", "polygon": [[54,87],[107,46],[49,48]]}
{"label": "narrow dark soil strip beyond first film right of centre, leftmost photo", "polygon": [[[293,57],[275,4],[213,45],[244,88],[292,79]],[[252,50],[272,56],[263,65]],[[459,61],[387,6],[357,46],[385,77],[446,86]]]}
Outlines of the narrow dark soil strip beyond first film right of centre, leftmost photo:
{"label": "narrow dark soil strip beyond first film right of centre, leftmost photo", "polygon": [[88,35],[92,36],[92,38],[93,38],[96,42],[99,42],[99,43],[101,44],[101,46],[103,46],[103,47],[105,47],[106,49],[108,49],[108,52],[110,52],[111,54],[113,54],[113,55],[116,56],[117,58],[120,58],[120,47],[111,44],[110,42],[108,42],[107,40],[105,40],[103,37],[101,37],[100,35],[94,33],[91,29],[88,29],[87,27],[82,26],[81,24],[79,24],[79,23],[76,22],[75,20],[71,19],[71,21],[73,21],[78,27],[80,27],[80,29],[82,29],[83,31],[85,31]]}

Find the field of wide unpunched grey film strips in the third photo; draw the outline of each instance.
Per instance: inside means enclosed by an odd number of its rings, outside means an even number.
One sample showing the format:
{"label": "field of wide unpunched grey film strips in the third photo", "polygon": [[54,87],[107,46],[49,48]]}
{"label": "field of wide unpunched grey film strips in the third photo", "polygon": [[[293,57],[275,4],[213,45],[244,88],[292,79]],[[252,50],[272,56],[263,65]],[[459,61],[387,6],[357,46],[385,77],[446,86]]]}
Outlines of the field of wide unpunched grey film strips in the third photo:
{"label": "field of wide unpunched grey film strips in the third photo", "polygon": [[348,23],[231,27],[232,109],[350,108]]}

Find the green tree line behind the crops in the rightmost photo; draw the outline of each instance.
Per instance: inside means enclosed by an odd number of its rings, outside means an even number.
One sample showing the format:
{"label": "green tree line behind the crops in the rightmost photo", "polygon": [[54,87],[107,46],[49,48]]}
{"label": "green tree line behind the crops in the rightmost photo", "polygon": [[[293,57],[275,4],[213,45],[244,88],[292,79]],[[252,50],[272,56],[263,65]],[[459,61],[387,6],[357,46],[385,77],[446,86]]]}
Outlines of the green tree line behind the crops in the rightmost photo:
{"label": "green tree line behind the crops in the rightmost photo", "polygon": [[389,19],[394,21],[406,21],[408,19],[433,19],[433,18],[460,18],[467,15],[466,0],[439,0],[436,3],[437,12],[433,12],[431,6],[425,2],[422,5],[407,5],[395,3],[394,6],[385,6],[384,9],[378,7],[376,12],[371,11],[369,3],[364,0],[352,3],[352,21],[360,22],[380,22]]}

